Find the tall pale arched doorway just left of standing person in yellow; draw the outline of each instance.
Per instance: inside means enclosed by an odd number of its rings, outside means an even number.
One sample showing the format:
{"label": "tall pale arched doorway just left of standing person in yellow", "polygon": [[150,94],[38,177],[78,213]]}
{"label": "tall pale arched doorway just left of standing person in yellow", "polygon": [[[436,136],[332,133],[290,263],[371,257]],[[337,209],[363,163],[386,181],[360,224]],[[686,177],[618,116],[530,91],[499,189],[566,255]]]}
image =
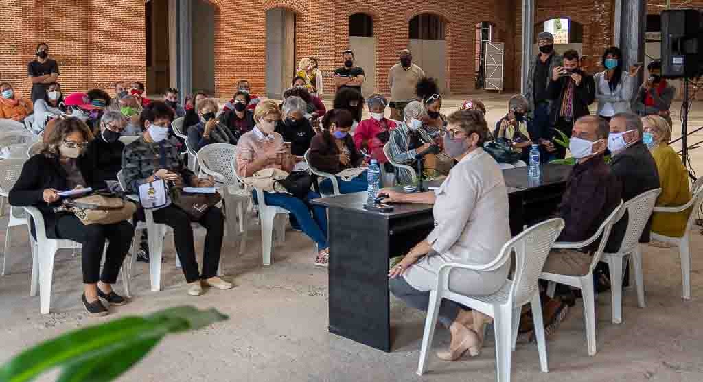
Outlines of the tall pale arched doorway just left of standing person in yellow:
{"label": "tall pale arched doorway just left of standing person in yellow", "polygon": [[295,76],[295,12],[266,11],[266,97],[278,99]]}

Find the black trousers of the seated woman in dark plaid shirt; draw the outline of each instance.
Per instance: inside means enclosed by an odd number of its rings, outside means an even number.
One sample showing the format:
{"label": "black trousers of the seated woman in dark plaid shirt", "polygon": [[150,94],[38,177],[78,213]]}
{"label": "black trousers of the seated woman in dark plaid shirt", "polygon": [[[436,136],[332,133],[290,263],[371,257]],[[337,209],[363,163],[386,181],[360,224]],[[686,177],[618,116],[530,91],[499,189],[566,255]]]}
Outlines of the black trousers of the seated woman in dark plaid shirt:
{"label": "black trousers of the seated woman in dark plaid shirt", "polygon": [[[137,213],[138,220],[143,220],[144,211],[139,210]],[[224,215],[219,208],[210,208],[200,220],[192,220],[185,211],[173,205],[158,209],[153,214],[155,223],[165,224],[174,229],[174,245],[181,260],[186,282],[209,279],[217,275],[224,235]],[[198,261],[195,260],[192,221],[197,221],[207,230],[205,251],[202,256],[202,273],[198,270]]]}

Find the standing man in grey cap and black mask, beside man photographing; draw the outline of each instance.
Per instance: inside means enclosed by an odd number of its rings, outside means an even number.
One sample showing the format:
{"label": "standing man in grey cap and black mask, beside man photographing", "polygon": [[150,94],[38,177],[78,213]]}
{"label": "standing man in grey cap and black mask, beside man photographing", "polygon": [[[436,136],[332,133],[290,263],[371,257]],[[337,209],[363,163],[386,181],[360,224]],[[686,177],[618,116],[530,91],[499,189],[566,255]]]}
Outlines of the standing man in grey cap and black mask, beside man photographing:
{"label": "standing man in grey cap and black mask, beside man photographing", "polygon": [[[555,67],[563,65],[563,58],[554,51],[554,36],[551,33],[538,34],[537,45],[539,53],[529,68],[524,96],[527,98],[529,111],[534,117],[533,121],[537,129],[546,131],[551,128],[549,116],[552,111],[552,102],[549,100],[547,91],[549,77]],[[554,149],[550,142],[548,147],[550,150]]]}

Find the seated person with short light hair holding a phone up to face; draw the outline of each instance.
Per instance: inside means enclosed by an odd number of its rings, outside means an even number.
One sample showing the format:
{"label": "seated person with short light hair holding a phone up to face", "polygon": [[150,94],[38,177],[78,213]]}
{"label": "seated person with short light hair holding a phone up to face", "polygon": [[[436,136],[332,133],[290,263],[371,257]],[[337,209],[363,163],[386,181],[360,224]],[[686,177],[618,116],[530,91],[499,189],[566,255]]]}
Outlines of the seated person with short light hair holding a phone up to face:
{"label": "seated person with short light hair holding a phone up to face", "polygon": [[218,107],[213,98],[205,98],[200,101],[196,109],[198,116],[200,116],[200,122],[189,127],[187,133],[188,147],[191,150],[198,152],[210,143],[237,144],[238,138],[215,117]]}

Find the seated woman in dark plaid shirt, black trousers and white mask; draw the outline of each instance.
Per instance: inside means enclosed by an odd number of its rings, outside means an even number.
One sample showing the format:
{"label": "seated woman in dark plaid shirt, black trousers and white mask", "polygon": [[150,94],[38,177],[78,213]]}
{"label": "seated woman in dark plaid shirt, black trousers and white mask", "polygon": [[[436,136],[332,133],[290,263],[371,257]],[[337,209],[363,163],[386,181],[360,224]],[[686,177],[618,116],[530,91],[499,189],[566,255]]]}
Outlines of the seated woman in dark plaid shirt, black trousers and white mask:
{"label": "seated woman in dark plaid shirt, black trousers and white mask", "polygon": [[[156,180],[167,180],[176,186],[212,187],[212,178],[199,179],[181,162],[177,141],[169,138],[168,126],[174,119],[174,110],[160,101],[152,101],[140,117],[146,131],[134,142],[124,147],[122,175],[127,190],[138,193],[139,186]],[[139,218],[143,210],[137,211]],[[154,221],[174,229],[174,245],[183,266],[183,275],[188,282],[188,294],[200,296],[202,286],[231,289],[232,284],[217,277],[224,216],[217,207],[208,209],[198,220],[206,230],[205,251],[202,256],[202,272],[198,270],[193,243],[193,219],[174,204],[153,211]],[[138,219],[141,220],[141,219]]]}

